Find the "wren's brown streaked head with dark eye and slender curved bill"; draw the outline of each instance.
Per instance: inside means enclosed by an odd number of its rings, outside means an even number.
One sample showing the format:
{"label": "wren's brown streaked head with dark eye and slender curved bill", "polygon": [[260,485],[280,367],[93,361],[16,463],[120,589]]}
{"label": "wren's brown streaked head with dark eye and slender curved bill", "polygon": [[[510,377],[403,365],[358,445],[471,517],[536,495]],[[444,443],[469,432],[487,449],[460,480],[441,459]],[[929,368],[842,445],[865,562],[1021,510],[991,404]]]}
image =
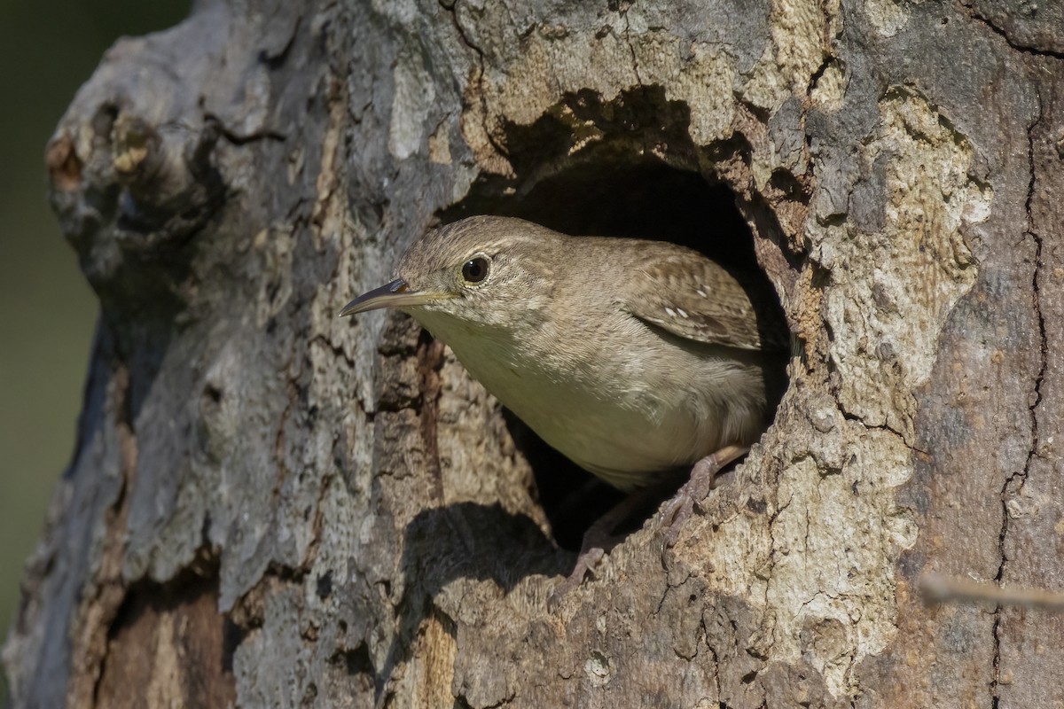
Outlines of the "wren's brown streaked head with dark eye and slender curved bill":
{"label": "wren's brown streaked head with dark eye and slender curved bill", "polygon": [[[505,217],[470,217],[428,232],[399,259],[396,277],[348,303],[340,317],[394,307],[432,330],[512,331],[533,324],[553,274],[543,249],[565,239]],[[444,335],[446,339],[446,335]]]}

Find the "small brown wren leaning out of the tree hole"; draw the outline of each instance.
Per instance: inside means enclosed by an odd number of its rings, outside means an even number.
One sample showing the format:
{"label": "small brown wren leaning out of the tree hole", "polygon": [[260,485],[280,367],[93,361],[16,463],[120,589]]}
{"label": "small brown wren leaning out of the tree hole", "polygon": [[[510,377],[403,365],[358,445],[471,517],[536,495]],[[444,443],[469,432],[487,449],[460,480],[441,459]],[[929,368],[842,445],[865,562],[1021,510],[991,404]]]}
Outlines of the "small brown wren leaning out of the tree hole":
{"label": "small brown wren leaning out of the tree hole", "polygon": [[[410,314],[541,438],[620,490],[695,463],[663,514],[669,544],[716,471],[764,432],[783,383],[789,337],[767,284],[675,243],[470,217],[416,241],[396,276],[340,316]],[[625,511],[588,530],[562,593]]]}

